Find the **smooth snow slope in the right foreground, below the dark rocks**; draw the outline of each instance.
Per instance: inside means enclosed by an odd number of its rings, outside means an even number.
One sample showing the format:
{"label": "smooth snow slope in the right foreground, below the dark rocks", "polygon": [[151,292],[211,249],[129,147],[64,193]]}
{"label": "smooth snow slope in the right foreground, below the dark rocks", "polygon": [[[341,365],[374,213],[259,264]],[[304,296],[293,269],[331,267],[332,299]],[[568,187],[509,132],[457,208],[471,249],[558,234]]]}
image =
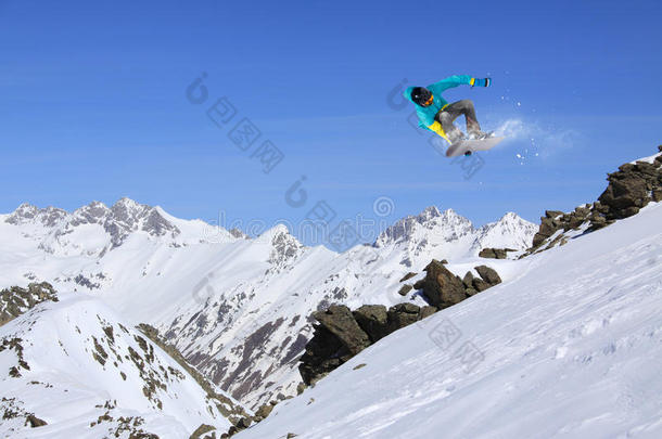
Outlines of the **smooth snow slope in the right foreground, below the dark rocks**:
{"label": "smooth snow slope in the right foreground, below the dark rocks", "polygon": [[660,224],[652,203],[514,261],[235,437],[662,437]]}

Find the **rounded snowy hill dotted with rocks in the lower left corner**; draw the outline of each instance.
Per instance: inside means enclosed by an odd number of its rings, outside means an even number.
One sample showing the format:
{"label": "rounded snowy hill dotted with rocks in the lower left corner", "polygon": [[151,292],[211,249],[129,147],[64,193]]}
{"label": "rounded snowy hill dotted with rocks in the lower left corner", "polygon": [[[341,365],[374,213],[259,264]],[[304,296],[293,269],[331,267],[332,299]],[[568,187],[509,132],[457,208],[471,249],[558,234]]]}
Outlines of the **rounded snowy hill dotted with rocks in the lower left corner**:
{"label": "rounded snowy hill dotted with rocks in the lower left corner", "polygon": [[[99,299],[40,304],[0,327],[0,345],[2,437],[184,438],[230,426],[220,401]],[[47,425],[30,428],[28,414]]]}

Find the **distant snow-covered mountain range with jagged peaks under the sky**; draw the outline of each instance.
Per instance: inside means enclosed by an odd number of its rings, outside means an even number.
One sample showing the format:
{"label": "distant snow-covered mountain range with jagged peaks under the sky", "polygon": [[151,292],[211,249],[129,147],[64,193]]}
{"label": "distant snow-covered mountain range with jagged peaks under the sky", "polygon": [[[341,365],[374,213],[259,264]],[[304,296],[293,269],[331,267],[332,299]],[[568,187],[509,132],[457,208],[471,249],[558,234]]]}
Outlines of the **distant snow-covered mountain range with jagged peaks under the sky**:
{"label": "distant snow-covered mountain range with jagged peaks under the sky", "polygon": [[283,225],[247,238],[128,198],[71,214],[22,205],[0,216],[0,286],[48,281],[92,294],[129,323],[158,328],[214,383],[256,408],[295,393],[311,311],[331,302],[423,305],[398,294],[406,273],[433,258],[461,270],[486,246],[524,249],[535,231],[514,214],[474,228],[430,207],[373,245],[338,254],[302,245]]}

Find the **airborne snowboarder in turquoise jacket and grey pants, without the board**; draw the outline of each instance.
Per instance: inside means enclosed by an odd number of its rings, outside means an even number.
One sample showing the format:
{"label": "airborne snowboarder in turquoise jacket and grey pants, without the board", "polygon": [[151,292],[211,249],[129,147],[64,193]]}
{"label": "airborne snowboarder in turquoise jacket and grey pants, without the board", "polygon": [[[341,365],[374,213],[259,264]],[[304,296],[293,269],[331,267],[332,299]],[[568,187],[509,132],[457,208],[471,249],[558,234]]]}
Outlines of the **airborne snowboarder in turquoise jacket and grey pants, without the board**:
{"label": "airborne snowboarder in turquoise jacket and grey pants, without the board", "polygon": [[453,124],[460,115],[464,115],[467,119],[467,133],[470,139],[485,139],[489,134],[481,131],[473,102],[464,99],[449,104],[442,96],[442,92],[461,85],[489,87],[491,82],[491,78],[478,79],[469,75],[454,75],[428,87],[409,87],[404,95],[416,105],[419,127],[436,132],[453,144],[464,139],[464,133]]}

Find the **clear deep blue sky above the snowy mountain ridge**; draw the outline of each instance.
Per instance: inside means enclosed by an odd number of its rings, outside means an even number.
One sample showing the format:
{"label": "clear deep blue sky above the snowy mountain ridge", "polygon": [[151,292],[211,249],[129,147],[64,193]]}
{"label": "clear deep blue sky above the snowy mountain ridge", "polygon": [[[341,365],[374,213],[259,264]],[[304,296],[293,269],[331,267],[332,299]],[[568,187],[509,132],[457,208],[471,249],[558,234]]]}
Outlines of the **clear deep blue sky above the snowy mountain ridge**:
{"label": "clear deep blue sky above the snowy mountain ridge", "polygon": [[[0,0],[0,211],[129,196],[181,218],[296,223],[323,199],[334,223],[429,205],[537,221],[662,143],[661,20],[657,1]],[[454,74],[493,87],[447,100],[472,99],[484,129],[517,128],[470,179],[387,104],[404,79]],[[237,118],[219,128],[205,112],[221,96]],[[284,154],[269,173],[228,138],[243,117],[255,147]]]}

